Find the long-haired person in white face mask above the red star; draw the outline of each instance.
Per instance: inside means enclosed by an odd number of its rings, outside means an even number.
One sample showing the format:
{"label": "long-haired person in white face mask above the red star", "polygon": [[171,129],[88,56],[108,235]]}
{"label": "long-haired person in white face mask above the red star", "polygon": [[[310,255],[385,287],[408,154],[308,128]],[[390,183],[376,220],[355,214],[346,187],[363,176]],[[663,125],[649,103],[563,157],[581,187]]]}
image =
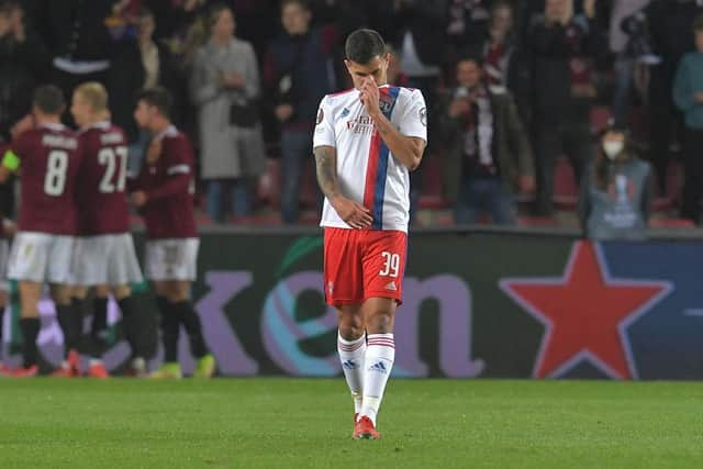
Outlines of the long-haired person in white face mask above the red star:
{"label": "long-haired person in white face mask above the red star", "polygon": [[651,167],[637,158],[624,129],[611,124],[587,168],[579,198],[579,219],[589,239],[647,237]]}

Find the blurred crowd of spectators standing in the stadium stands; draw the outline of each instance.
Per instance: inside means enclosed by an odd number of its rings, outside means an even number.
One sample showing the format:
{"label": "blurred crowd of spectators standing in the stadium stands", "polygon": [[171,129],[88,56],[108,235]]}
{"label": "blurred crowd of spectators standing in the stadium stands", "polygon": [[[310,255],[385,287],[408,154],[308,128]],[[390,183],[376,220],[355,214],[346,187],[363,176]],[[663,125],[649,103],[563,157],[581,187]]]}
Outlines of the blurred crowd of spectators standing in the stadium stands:
{"label": "blurred crowd of spectators standing in the stadium stands", "polygon": [[[623,223],[629,210],[699,224],[702,13],[699,0],[2,0],[0,136],[37,85],[69,97],[98,81],[137,171],[153,136],[136,96],[160,86],[196,144],[201,223],[312,222],[317,104],[350,87],[342,45],[368,26],[392,44],[391,81],[428,107],[415,223],[585,224],[574,209],[595,198]],[[621,159],[650,164],[641,180],[609,159],[606,129],[626,139]],[[4,185],[5,215],[13,194]]]}

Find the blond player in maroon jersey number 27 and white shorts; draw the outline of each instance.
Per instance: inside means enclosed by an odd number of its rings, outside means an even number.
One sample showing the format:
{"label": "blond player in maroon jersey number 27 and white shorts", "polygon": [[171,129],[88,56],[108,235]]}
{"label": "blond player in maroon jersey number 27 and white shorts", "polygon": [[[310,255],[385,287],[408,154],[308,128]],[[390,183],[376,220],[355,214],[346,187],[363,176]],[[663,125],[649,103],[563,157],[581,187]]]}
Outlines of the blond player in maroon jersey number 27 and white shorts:
{"label": "blond player in maroon jersey number 27 and white shorts", "polygon": [[[78,138],[83,159],[78,171],[78,231],[74,283],[74,306],[82,310],[88,289],[96,288],[92,337],[100,350],[93,353],[89,375],[107,378],[101,355],[112,293],[122,311],[126,339],[132,347],[132,368],[145,372],[144,350],[136,327],[137,304],[131,283],[140,283],[142,270],[130,233],[126,198],[127,144],[122,129],[109,121],[108,92],[98,82],[74,91],[70,112],[80,126]],[[72,373],[77,367],[71,364]]]}

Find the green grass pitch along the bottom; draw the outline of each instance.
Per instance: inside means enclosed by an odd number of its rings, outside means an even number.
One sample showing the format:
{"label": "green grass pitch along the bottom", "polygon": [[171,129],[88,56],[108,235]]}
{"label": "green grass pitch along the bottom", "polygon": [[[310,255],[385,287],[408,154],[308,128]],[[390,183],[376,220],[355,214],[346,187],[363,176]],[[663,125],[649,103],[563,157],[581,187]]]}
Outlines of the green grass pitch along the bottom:
{"label": "green grass pitch along the bottom", "polygon": [[0,380],[0,468],[700,468],[703,384],[391,380],[355,442],[336,380]]}

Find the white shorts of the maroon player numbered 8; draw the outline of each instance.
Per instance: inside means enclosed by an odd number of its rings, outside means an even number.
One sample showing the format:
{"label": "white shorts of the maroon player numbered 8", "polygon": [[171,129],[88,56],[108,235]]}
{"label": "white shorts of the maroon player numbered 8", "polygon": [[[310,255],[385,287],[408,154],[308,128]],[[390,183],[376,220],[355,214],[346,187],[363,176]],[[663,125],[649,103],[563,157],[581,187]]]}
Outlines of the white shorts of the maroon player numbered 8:
{"label": "white shorts of the maroon player numbered 8", "polygon": [[20,232],[10,249],[8,278],[34,282],[69,283],[74,236]]}

